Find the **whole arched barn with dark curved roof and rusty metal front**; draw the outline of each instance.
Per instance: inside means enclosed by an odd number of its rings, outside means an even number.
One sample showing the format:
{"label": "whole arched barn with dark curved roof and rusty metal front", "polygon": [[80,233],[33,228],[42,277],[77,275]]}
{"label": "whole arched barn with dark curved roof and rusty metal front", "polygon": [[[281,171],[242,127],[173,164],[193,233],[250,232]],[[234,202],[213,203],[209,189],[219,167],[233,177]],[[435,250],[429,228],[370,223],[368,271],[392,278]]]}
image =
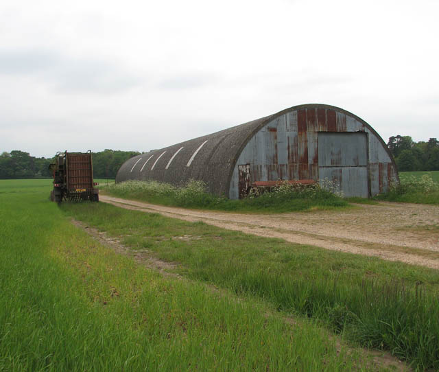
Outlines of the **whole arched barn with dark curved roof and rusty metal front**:
{"label": "whole arched barn with dark curved roof and rusty metal front", "polygon": [[213,194],[237,199],[255,182],[324,178],[344,196],[368,198],[388,191],[398,173],[383,139],[366,121],[342,108],[305,104],[135,156],[123,163],[116,182],[184,185],[195,179]]}

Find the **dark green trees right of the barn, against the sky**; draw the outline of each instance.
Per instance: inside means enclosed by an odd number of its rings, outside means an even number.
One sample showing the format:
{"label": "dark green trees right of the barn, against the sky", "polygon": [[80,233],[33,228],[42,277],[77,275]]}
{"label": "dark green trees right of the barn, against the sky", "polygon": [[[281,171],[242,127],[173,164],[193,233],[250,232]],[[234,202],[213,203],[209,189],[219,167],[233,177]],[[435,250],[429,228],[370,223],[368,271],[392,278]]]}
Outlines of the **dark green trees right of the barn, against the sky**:
{"label": "dark green trees right of the barn, against the sky", "polygon": [[439,170],[439,141],[413,141],[410,136],[392,136],[387,146],[400,172]]}

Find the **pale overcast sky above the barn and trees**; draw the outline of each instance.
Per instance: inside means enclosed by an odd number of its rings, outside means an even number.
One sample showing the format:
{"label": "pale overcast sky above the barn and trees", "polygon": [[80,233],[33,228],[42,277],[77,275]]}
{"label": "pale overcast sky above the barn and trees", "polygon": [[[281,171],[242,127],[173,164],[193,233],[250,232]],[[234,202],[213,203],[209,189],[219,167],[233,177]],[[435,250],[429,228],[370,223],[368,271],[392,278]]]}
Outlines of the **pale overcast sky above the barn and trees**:
{"label": "pale overcast sky above the barn and trees", "polygon": [[0,152],[147,151],[306,103],[439,138],[439,1],[0,1]]}

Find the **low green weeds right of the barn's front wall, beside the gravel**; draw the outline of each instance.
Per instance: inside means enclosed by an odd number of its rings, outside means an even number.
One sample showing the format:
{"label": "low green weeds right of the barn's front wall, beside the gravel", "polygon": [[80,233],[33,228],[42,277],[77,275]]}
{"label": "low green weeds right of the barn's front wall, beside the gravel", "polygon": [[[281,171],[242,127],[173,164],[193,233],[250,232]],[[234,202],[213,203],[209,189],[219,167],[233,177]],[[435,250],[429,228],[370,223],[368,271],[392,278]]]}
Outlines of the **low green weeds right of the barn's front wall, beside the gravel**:
{"label": "low green weeds right of the barn's front wall, beside the gravel", "polygon": [[439,183],[434,181],[439,172],[404,172],[400,183],[391,185],[387,194],[375,196],[377,200],[390,202],[415,202],[420,204],[439,204]]}

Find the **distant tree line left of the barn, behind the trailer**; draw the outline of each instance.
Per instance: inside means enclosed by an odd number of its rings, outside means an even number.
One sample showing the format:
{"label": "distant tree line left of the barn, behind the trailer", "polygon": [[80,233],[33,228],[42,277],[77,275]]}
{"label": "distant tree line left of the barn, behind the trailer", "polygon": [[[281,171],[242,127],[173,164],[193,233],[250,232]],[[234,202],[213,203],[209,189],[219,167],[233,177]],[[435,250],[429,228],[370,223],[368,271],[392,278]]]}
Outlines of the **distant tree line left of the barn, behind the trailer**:
{"label": "distant tree line left of the barn, behind the trailer", "polygon": [[[116,178],[119,167],[137,151],[119,151],[106,149],[93,152],[93,176],[95,178]],[[38,158],[28,152],[13,150],[0,155],[0,179],[6,178],[51,178],[49,164],[54,158]]]}

